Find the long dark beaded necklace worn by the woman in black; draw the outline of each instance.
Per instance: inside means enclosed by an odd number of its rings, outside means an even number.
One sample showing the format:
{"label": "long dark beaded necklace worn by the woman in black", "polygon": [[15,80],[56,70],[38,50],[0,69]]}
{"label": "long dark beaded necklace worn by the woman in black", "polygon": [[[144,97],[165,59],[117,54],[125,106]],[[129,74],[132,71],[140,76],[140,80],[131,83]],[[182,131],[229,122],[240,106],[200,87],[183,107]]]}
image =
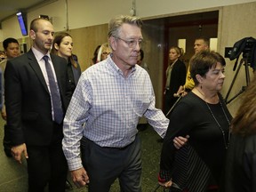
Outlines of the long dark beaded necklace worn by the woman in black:
{"label": "long dark beaded necklace worn by the woman in black", "polygon": [[[203,94],[202,92],[200,92],[197,88],[196,88],[196,90],[197,90],[197,92],[199,92],[202,96],[204,96],[204,94]],[[210,108],[210,106],[209,106],[208,103],[206,102],[205,96],[204,96],[204,102],[205,102],[207,108],[209,109],[209,111],[210,111],[210,113],[211,113],[211,115],[212,115],[212,118],[214,119],[214,121],[216,122],[216,124],[219,126],[220,132],[222,133],[222,137],[223,137],[223,141],[224,141],[225,148],[228,149],[228,144],[229,144],[229,139],[230,139],[230,132],[229,132],[230,121],[229,121],[229,119],[228,119],[227,114],[225,113],[225,110],[224,110],[224,108],[223,108],[223,106],[222,106],[221,101],[219,100],[219,102],[220,102],[220,107],[221,107],[222,112],[223,112],[223,114],[224,114],[224,116],[226,117],[227,122],[228,122],[228,140],[226,140],[226,133],[224,132],[224,130],[223,130],[222,127],[220,126],[220,123],[218,122],[217,118],[214,116],[214,114],[213,114],[213,112],[212,112],[212,109]]]}

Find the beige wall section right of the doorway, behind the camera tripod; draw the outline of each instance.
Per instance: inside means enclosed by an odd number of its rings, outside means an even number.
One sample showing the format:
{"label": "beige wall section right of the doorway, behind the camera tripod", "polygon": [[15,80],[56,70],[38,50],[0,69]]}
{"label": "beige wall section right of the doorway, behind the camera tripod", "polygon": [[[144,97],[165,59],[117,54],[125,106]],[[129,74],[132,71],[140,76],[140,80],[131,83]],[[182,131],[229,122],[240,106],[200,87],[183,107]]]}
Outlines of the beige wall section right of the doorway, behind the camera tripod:
{"label": "beige wall section right of the doorway, behind the camera tripod", "polygon": [[[219,29],[219,44],[220,53],[224,54],[225,47],[233,47],[233,45],[240,39],[253,36],[256,38],[256,3],[249,4],[237,4],[232,6],[226,6],[221,9],[220,12],[220,29]],[[226,95],[228,88],[234,78],[235,72],[233,71],[235,60],[226,60],[226,80],[223,88],[223,94]],[[250,69],[252,79],[252,68]],[[239,70],[239,74],[236,78],[235,85],[230,93],[230,98],[236,95],[241,90],[241,87],[246,85],[244,66]],[[240,95],[241,96],[241,95]],[[236,114],[236,110],[239,106],[241,97],[236,98],[228,104],[229,110],[233,115]]]}

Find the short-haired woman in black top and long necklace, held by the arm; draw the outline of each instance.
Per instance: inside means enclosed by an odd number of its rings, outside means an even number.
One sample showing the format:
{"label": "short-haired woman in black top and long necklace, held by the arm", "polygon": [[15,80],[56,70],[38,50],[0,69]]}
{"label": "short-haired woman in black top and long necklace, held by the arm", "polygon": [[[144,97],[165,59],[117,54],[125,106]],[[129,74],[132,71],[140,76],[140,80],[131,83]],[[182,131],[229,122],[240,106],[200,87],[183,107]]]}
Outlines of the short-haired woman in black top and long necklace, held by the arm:
{"label": "short-haired woman in black top and long necklace, held by the arm", "polygon": [[[220,95],[225,64],[218,52],[198,52],[190,60],[195,88],[170,116],[161,154],[160,185],[189,192],[218,190],[232,118]],[[190,137],[187,145],[176,149],[172,140],[180,135]]]}

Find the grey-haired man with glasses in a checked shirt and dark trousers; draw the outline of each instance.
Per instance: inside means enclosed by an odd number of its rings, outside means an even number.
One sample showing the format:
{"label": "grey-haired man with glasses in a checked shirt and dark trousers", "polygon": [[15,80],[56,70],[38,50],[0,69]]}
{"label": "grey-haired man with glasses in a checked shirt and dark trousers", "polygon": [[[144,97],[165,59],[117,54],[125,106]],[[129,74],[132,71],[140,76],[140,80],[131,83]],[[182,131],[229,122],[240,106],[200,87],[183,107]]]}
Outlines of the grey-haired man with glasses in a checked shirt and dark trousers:
{"label": "grey-haired man with glasses in a checked shirt and dark trousers", "polygon": [[84,71],[68,106],[63,150],[76,186],[89,184],[90,192],[108,192],[117,178],[121,191],[140,192],[140,116],[162,138],[169,124],[155,108],[147,71],[136,65],[143,43],[141,27],[137,17],[110,20],[112,53]]}

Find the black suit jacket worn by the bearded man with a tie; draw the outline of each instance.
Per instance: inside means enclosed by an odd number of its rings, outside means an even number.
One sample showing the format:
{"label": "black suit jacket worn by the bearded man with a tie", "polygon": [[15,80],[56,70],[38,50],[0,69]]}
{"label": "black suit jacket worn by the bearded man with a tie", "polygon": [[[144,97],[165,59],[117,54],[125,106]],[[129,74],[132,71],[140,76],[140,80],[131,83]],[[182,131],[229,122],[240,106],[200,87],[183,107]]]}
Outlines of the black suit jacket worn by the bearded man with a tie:
{"label": "black suit jacket worn by the bearded man with a tie", "polygon": [[[65,112],[68,108],[67,61],[56,55],[51,58]],[[8,60],[4,79],[7,132],[12,145],[50,144],[53,132],[51,96],[32,50]]]}

